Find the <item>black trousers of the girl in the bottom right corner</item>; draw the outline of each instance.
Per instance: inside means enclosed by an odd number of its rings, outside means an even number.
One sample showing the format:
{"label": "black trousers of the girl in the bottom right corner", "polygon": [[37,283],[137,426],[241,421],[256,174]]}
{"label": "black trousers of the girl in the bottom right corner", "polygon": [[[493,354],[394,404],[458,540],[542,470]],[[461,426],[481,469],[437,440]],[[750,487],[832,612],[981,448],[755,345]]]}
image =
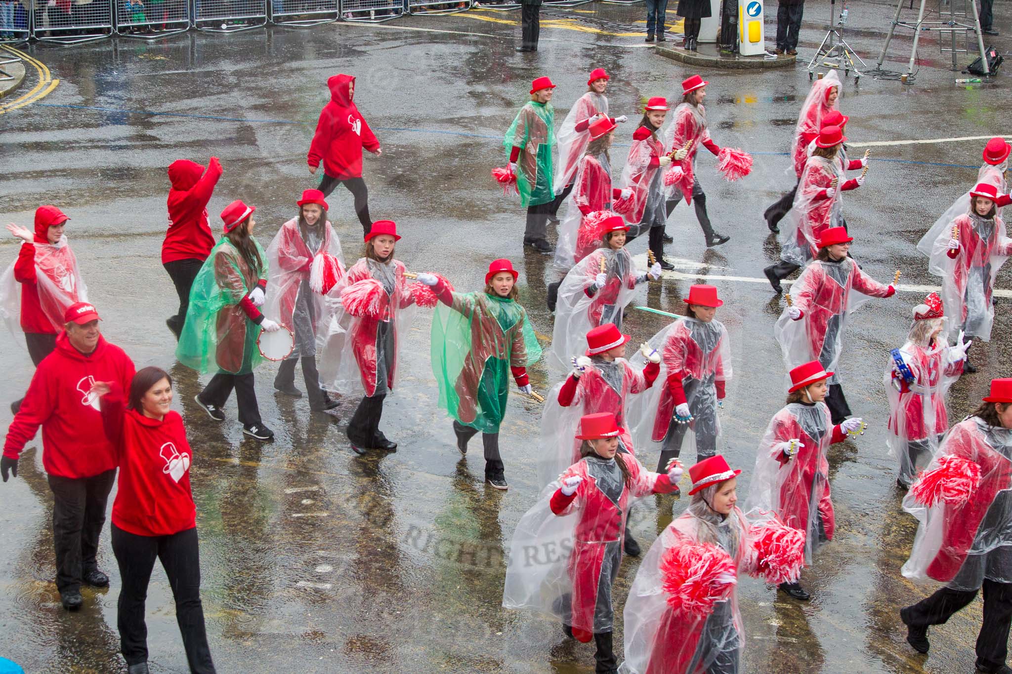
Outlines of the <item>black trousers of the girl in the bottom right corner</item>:
{"label": "black trousers of the girl in the bottom right corner", "polygon": [[[978,590],[943,587],[908,609],[910,624],[927,628],[942,624],[977,596]],[[1012,583],[984,579],[984,621],[977,637],[977,665],[994,671],[1008,656],[1009,624],[1012,623]]]}

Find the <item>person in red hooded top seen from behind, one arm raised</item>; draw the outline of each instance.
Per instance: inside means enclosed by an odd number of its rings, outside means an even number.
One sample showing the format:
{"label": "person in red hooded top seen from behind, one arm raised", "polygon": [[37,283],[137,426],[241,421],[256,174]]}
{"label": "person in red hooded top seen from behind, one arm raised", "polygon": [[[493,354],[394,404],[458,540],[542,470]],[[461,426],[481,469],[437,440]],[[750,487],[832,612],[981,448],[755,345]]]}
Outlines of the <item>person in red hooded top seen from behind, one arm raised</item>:
{"label": "person in red hooded top seen from behind, one arm raised", "polygon": [[210,158],[206,172],[188,159],[169,165],[172,187],[167,202],[169,228],[162,242],[162,267],[169,273],[179,295],[179,310],[165,321],[177,340],[186,321],[190,286],[210,255],[210,249],[218,243],[207,224],[207,202],[221,177],[222,164],[217,157]]}

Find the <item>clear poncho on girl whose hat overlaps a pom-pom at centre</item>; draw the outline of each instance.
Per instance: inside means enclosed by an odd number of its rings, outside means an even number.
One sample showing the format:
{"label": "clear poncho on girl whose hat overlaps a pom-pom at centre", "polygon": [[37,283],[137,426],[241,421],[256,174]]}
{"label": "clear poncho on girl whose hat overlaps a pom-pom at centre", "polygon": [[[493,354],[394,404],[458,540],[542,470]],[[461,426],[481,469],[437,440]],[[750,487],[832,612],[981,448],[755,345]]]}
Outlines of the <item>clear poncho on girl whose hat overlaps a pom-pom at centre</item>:
{"label": "clear poncho on girl whose hat overlaps a pom-pom at centre", "polygon": [[[607,275],[604,286],[588,295],[601,272]],[[621,329],[622,310],[636,294],[638,277],[632,257],[624,248],[597,249],[573,267],[559,286],[550,363],[569,370],[571,359],[586,351],[587,332],[592,327],[614,323]]]}

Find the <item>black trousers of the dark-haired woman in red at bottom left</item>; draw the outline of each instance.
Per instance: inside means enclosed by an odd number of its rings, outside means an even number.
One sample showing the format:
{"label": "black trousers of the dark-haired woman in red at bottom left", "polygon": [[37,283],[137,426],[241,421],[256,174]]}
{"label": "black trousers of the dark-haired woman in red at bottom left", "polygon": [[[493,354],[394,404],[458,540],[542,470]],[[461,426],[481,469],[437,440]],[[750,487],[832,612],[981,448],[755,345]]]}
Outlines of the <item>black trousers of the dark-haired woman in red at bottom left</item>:
{"label": "black trousers of the dark-haired woman in red at bottom left", "polygon": [[200,604],[200,557],[196,528],[171,536],[138,536],[112,524],[112,553],[119,564],[122,588],[116,602],[116,627],[119,648],[128,665],[148,661],[148,625],[145,624],[145,599],[155,568],[155,558],[162,562],[176,600],[176,622],[183,638],[190,671],[214,674],[215,664],[207,647]]}

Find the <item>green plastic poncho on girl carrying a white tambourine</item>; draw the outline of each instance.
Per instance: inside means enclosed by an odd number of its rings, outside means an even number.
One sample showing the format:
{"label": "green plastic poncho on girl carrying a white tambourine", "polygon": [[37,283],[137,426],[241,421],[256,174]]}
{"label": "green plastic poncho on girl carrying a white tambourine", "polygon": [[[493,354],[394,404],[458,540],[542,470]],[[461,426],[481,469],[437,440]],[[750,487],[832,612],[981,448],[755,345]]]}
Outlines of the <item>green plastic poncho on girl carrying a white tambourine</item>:
{"label": "green plastic poncho on girl carrying a white tambourine", "polygon": [[260,327],[239,304],[267,278],[267,256],[252,240],[260,254],[260,270],[251,269],[229,237],[222,236],[193,279],[176,358],[197,372],[244,375],[263,359],[256,344]]}

